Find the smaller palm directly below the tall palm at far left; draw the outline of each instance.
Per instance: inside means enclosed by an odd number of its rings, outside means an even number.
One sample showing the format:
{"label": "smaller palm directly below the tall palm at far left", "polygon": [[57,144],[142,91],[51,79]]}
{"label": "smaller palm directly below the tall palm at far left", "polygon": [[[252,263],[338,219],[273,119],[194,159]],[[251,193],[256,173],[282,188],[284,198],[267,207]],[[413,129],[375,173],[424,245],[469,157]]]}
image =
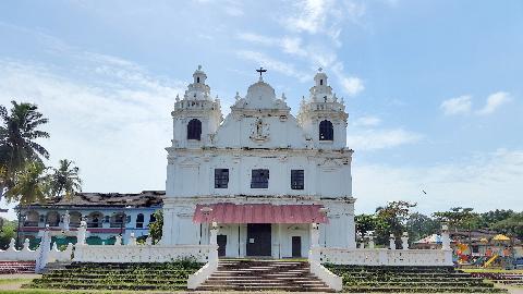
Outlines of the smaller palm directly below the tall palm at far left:
{"label": "smaller palm directly below the tall palm at far left", "polygon": [[47,168],[40,161],[25,164],[25,169],[16,172],[14,186],[5,193],[8,201],[20,201],[28,205],[42,201],[49,195],[49,176],[45,173]]}

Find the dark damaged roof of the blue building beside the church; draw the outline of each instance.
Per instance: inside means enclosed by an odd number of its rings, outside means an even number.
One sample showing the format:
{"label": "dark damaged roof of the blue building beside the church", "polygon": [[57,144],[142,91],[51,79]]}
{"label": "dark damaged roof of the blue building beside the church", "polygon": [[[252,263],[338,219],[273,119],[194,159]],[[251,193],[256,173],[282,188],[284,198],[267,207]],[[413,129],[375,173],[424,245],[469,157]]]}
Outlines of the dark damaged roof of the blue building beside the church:
{"label": "dark damaged roof of the blue building beside the church", "polygon": [[143,191],[142,193],[76,193],[72,197],[57,197],[47,199],[45,203],[34,203],[29,206],[57,207],[57,206],[82,206],[82,207],[151,207],[161,206],[165,191]]}

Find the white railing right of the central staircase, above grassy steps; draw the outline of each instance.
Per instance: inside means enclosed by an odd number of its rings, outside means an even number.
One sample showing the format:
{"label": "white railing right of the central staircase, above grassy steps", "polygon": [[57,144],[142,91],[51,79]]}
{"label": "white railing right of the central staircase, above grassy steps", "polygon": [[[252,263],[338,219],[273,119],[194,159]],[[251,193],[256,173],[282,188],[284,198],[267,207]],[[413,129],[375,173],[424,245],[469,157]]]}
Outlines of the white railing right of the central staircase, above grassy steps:
{"label": "white railing right of the central staircase, above grassy steps", "polygon": [[450,249],[381,249],[316,247],[321,264],[355,266],[452,266]]}

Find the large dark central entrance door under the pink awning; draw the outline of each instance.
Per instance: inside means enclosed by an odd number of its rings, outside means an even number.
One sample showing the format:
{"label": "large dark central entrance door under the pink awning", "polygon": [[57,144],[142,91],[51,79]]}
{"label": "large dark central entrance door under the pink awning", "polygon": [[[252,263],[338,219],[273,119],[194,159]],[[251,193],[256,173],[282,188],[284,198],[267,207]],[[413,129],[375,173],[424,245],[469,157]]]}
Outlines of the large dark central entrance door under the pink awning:
{"label": "large dark central entrance door under the pink awning", "polygon": [[247,256],[271,256],[270,223],[247,223]]}

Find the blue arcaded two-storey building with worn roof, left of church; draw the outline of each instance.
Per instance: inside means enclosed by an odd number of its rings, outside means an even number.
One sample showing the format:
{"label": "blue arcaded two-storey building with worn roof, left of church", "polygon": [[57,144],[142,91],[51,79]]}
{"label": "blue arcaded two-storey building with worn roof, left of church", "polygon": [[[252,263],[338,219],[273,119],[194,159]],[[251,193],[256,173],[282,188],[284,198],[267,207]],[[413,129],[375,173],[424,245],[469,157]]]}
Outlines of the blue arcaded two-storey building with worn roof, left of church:
{"label": "blue arcaded two-storey building with worn roof, left of church", "polygon": [[[136,237],[148,235],[148,225],[156,221],[155,211],[161,209],[163,191],[144,191],[138,194],[119,193],[78,193],[71,198],[61,197],[19,206],[20,243],[25,238],[32,247],[39,244],[46,225],[51,231],[64,230],[64,216],[69,213],[69,226],[75,231],[82,219],[87,222],[89,233],[86,242],[90,245],[114,244],[115,236],[122,235],[124,242],[131,233]],[[75,236],[54,236],[59,246],[76,243]]]}

